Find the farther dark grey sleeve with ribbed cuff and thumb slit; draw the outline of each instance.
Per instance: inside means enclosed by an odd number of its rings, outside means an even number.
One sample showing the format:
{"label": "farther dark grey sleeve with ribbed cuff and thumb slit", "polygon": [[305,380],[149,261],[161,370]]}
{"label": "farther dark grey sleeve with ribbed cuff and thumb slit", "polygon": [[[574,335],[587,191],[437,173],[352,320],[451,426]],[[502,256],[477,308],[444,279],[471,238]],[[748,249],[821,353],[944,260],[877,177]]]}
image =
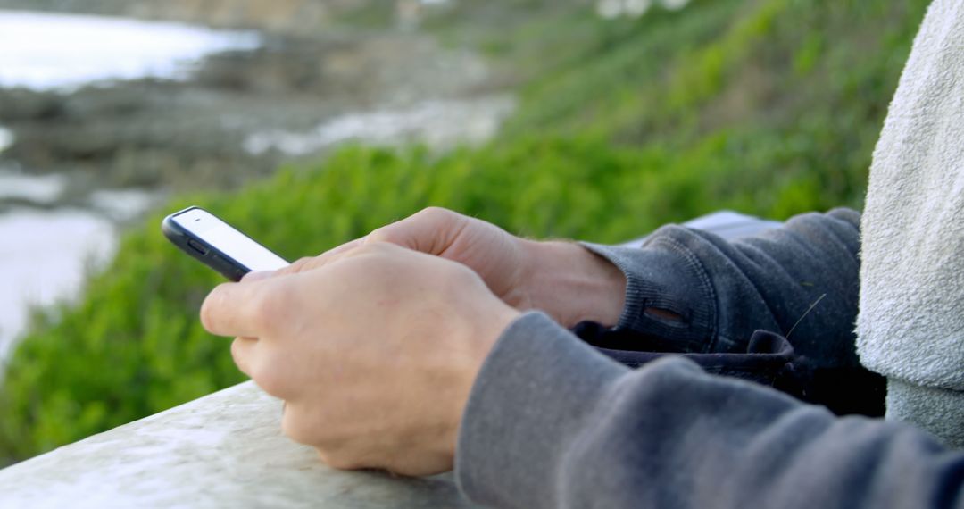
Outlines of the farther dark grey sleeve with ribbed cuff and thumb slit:
{"label": "farther dark grey sleeve with ribbed cuff and thumb slit", "polygon": [[585,246],[627,277],[620,329],[698,353],[745,352],[763,329],[814,362],[857,366],[859,225],[860,214],[836,209],[736,241],[668,226],[642,248]]}

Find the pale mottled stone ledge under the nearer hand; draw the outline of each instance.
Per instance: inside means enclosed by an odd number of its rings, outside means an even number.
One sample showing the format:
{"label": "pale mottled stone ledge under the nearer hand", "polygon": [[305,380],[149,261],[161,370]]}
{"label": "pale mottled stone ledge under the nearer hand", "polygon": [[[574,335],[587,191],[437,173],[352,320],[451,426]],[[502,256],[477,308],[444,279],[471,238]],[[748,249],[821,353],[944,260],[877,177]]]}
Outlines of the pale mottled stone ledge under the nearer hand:
{"label": "pale mottled stone ledge under the nearer hand", "polygon": [[252,382],[0,470],[0,506],[473,507],[450,475],[326,467]]}

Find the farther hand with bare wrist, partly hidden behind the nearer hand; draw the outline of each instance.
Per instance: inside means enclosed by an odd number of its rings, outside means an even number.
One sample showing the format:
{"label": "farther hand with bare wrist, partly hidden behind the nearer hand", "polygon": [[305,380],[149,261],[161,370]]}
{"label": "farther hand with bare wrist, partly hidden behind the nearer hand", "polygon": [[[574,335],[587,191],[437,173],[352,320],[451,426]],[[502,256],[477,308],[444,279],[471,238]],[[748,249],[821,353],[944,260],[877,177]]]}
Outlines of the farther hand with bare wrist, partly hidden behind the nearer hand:
{"label": "farther hand with bare wrist, partly hidden behind the nearer hand", "polygon": [[324,255],[298,260],[281,273],[327,263],[365,242],[389,242],[462,263],[509,306],[544,310],[566,327],[583,320],[615,325],[626,298],[623,273],[577,244],[522,239],[495,225],[437,207],[378,228]]}

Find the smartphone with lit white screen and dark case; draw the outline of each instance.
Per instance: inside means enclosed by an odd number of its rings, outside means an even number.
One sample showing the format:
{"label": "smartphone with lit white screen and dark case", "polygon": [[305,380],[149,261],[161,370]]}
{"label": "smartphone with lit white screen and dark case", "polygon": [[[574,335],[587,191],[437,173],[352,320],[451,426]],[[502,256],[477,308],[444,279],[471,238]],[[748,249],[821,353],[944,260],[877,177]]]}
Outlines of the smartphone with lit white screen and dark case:
{"label": "smartphone with lit white screen and dark case", "polygon": [[249,272],[278,270],[288,265],[284,258],[201,207],[174,212],[164,218],[161,230],[181,251],[230,281],[240,281]]}

